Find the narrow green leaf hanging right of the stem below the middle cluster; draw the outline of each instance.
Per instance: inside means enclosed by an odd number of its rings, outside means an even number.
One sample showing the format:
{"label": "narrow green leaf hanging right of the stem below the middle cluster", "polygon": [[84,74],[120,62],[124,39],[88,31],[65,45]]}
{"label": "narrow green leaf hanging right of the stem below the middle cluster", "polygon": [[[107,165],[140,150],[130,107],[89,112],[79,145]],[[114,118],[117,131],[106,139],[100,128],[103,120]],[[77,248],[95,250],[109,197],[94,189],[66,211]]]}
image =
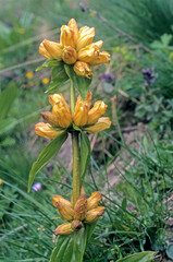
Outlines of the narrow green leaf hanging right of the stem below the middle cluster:
{"label": "narrow green leaf hanging right of the stem below the middle cluster", "polygon": [[85,132],[81,132],[81,178],[83,180],[90,160],[90,142]]}

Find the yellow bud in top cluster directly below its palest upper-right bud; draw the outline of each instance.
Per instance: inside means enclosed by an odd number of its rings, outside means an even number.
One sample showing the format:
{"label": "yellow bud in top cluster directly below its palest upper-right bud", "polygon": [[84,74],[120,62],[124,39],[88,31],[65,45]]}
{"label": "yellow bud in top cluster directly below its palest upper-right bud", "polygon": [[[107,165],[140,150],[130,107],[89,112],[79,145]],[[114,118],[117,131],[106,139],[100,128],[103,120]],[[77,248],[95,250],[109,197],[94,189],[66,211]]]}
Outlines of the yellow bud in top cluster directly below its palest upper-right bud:
{"label": "yellow bud in top cluster directly below its palest upper-right bud", "polygon": [[91,62],[94,61],[100,52],[100,48],[102,46],[103,41],[99,40],[97,43],[92,43],[84,48],[82,48],[78,51],[78,60],[84,61],[84,62]]}

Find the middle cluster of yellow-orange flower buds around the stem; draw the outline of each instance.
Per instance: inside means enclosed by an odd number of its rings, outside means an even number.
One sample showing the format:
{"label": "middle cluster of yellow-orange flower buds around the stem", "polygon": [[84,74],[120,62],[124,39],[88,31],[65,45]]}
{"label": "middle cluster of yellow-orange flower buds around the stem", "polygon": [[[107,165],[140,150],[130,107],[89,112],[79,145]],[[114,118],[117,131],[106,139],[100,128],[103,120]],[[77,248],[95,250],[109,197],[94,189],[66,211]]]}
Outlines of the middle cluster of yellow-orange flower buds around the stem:
{"label": "middle cluster of yellow-orange flower buds around the stem", "polygon": [[52,112],[41,112],[42,118],[48,123],[37,123],[35,126],[36,134],[47,139],[54,139],[71,127],[72,123],[88,133],[97,133],[110,128],[110,118],[101,117],[107,110],[107,105],[102,100],[98,100],[90,109],[91,96],[91,92],[88,92],[86,100],[83,100],[79,95],[72,116],[62,94],[50,95],[49,103],[52,105]]}

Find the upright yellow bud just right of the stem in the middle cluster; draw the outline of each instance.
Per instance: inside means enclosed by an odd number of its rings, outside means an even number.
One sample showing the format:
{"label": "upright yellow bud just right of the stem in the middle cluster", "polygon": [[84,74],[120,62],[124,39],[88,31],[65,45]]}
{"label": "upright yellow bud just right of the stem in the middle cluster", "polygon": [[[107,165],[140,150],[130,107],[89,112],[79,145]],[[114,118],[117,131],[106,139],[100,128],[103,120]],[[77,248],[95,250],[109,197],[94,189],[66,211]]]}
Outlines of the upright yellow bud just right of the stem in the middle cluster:
{"label": "upright yellow bud just right of the stem in the middle cluster", "polygon": [[83,127],[88,120],[88,103],[84,102],[81,96],[77,97],[74,109],[73,121],[77,127]]}

